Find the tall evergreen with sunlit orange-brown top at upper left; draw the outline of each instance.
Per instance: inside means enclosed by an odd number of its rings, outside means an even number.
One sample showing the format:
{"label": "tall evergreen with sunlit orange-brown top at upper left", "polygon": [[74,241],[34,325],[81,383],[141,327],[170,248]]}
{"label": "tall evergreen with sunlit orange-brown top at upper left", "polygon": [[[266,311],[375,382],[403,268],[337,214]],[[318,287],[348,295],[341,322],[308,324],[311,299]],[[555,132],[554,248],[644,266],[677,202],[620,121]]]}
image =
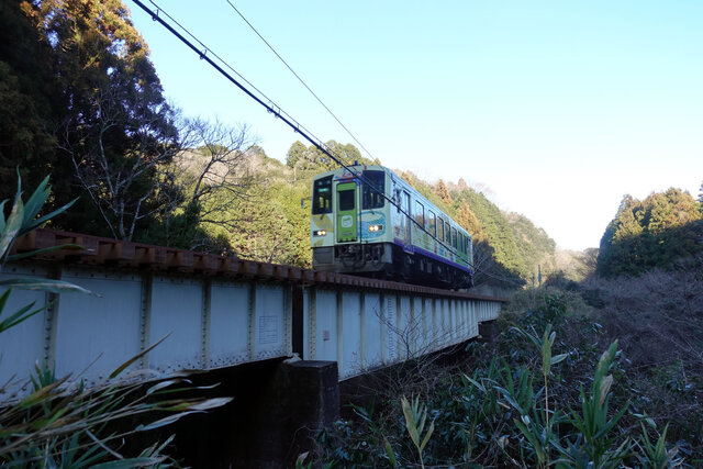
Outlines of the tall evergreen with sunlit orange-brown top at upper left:
{"label": "tall evergreen with sunlit orange-brown top at upper left", "polygon": [[146,44],[120,0],[22,8],[48,49],[58,90],[51,121],[60,150],[52,172],[67,190],[57,198],[82,196],[65,227],[131,239],[176,190],[159,169],[177,154],[178,130]]}

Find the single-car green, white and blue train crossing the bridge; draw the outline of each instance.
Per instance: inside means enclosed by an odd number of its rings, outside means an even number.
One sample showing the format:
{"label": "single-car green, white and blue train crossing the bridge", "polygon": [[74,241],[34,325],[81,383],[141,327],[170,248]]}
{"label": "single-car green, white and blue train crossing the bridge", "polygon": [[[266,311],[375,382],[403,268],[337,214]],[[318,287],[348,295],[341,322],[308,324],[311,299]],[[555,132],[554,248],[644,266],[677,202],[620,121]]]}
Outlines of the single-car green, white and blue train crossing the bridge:
{"label": "single-car green, white and blue train crossing the bridge", "polygon": [[312,182],[316,270],[437,288],[473,284],[471,235],[390,169],[354,165]]}

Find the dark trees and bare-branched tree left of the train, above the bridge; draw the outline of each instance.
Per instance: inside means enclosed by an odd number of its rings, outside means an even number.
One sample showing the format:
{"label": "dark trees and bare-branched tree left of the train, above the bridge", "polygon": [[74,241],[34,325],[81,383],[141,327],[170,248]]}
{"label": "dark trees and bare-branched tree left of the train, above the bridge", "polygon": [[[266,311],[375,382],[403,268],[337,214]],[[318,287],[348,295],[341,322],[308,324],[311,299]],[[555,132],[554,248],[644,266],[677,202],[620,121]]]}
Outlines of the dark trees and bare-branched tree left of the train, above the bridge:
{"label": "dark trees and bare-branched tree left of the train, above the bridge", "polygon": [[[200,225],[228,223],[217,213],[242,194],[246,127],[182,119],[166,102],[120,0],[0,0],[0,196],[16,167],[29,183],[51,172],[51,204],[78,198],[55,226],[212,244]],[[187,171],[186,153],[198,156]]]}

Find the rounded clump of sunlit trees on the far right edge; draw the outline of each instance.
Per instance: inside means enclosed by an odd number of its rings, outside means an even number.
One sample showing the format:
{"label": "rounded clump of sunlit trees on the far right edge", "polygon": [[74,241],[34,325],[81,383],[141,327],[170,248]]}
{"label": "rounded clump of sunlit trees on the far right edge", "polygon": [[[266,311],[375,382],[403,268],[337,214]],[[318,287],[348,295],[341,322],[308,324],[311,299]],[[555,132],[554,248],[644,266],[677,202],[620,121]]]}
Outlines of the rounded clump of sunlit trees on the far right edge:
{"label": "rounded clump of sunlit trees on the far right edge", "polygon": [[669,189],[645,200],[625,196],[601,239],[598,273],[639,275],[703,253],[703,186],[696,201]]}

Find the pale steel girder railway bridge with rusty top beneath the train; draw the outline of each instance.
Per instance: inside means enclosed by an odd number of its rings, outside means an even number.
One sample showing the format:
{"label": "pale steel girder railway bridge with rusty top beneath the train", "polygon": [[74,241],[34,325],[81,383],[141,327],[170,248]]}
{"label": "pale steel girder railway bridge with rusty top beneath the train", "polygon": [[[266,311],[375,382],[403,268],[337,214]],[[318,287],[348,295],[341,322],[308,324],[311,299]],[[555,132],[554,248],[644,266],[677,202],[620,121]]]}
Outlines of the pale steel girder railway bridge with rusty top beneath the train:
{"label": "pale steel girder railway bridge with rusty top beneath the train", "polygon": [[[138,359],[123,376],[142,380],[297,357],[294,368],[312,369],[313,388],[326,390],[317,401],[338,401],[339,381],[477,337],[503,301],[52,230],[25,235],[14,250],[64,244],[83,248],[0,272],[91,292],[13,290],[5,311],[47,305],[0,340],[0,380],[14,380],[15,395],[26,392],[35,362],[96,387],[131,357]],[[330,405],[317,401],[310,409]]]}

